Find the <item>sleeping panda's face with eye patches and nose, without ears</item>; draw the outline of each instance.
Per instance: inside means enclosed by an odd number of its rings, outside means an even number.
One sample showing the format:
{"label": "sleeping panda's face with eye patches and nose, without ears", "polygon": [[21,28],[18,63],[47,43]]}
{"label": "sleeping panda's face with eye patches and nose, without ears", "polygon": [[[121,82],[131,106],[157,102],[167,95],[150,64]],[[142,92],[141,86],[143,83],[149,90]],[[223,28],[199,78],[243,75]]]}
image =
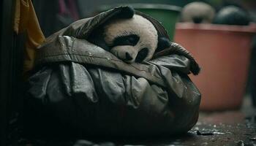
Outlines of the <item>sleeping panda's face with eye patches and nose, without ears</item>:
{"label": "sleeping panda's face with eye patches and nose, without ears", "polygon": [[113,20],[103,33],[110,52],[127,63],[148,61],[157,49],[157,30],[140,15]]}

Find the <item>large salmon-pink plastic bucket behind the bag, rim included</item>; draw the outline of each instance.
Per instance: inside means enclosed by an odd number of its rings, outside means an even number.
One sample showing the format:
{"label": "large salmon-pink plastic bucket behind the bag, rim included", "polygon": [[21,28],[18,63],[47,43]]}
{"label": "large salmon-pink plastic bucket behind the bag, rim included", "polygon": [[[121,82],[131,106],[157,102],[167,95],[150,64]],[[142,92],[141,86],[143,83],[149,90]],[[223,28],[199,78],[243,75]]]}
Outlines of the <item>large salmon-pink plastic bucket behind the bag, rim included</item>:
{"label": "large salmon-pink plastic bucket behind the bag, rim included", "polygon": [[200,110],[241,106],[255,32],[255,25],[176,25],[175,42],[187,48],[202,68],[198,76],[190,76],[202,93]]}

